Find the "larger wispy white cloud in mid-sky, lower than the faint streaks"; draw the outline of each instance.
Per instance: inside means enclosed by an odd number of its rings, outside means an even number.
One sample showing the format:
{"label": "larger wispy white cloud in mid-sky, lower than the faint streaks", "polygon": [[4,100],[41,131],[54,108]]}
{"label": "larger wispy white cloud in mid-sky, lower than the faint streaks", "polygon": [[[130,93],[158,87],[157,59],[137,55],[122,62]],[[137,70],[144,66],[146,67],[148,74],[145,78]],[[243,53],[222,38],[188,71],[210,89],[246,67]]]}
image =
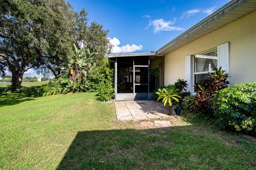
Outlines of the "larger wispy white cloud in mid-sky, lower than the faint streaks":
{"label": "larger wispy white cloud in mid-sky, lower than the faint streaks", "polygon": [[146,29],[148,29],[150,26],[153,27],[154,33],[157,33],[159,31],[182,31],[184,28],[174,26],[175,20],[177,18],[174,18],[172,21],[165,21],[164,19],[158,19],[149,21],[149,25]]}

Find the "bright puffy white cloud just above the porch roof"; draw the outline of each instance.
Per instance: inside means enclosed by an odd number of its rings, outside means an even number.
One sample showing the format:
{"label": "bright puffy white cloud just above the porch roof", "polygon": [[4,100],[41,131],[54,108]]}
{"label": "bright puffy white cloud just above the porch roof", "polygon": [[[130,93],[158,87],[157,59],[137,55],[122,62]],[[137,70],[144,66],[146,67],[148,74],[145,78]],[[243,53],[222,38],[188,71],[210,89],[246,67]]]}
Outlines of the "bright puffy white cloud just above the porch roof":
{"label": "bright puffy white cloud just above the porch roof", "polygon": [[135,52],[136,50],[141,50],[142,49],[142,45],[135,45],[135,44],[126,44],[124,46],[119,46],[120,45],[120,41],[119,39],[117,39],[116,37],[114,37],[113,39],[109,38],[110,43],[113,45],[113,49],[111,50],[112,54],[115,53],[132,53]]}

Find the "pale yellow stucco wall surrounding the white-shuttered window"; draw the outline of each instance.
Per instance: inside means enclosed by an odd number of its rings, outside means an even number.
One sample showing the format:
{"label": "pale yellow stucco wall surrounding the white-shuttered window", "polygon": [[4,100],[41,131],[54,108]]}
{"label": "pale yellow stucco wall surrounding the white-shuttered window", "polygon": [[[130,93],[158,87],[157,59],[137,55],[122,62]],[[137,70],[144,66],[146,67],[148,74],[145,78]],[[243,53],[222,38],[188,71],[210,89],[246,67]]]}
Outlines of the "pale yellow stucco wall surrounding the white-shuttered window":
{"label": "pale yellow stucco wall surrounding the white-shuttered window", "polygon": [[229,42],[230,84],[256,81],[256,11],[164,56],[164,84],[185,79],[185,57]]}

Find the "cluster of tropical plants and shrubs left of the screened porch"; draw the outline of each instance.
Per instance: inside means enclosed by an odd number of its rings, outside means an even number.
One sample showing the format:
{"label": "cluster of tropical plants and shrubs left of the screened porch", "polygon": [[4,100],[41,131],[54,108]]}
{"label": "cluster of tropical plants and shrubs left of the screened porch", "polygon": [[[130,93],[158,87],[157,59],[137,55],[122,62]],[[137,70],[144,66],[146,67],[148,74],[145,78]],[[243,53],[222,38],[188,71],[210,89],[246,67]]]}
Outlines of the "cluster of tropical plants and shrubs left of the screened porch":
{"label": "cluster of tropical plants and shrubs left of the screened porch", "polygon": [[107,59],[96,66],[92,60],[95,53],[90,53],[89,49],[77,49],[75,45],[73,50],[74,54],[69,58],[66,68],[67,74],[62,74],[57,81],[47,84],[44,95],[98,91],[100,100],[112,99],[113,70],[109,68]]}

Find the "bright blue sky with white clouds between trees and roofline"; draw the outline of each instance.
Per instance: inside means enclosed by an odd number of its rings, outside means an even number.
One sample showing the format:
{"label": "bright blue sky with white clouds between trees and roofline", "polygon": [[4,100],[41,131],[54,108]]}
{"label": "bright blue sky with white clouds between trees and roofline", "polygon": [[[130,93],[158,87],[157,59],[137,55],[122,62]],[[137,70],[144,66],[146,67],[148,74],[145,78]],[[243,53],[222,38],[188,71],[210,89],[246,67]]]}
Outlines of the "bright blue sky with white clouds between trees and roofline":
{"label": "bright blue sky with white clouds between trees and roofline", "polygon": [[[179,36],[228,0],[67,0],[109,30],[113,53],[151,52]],[[37,76],[30,70],[26,76]]]}

